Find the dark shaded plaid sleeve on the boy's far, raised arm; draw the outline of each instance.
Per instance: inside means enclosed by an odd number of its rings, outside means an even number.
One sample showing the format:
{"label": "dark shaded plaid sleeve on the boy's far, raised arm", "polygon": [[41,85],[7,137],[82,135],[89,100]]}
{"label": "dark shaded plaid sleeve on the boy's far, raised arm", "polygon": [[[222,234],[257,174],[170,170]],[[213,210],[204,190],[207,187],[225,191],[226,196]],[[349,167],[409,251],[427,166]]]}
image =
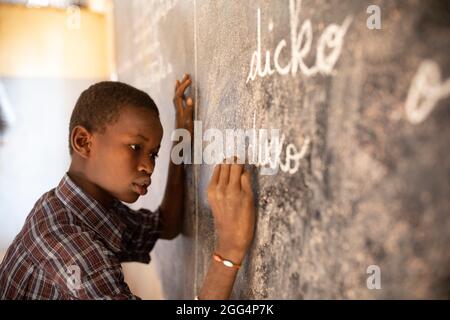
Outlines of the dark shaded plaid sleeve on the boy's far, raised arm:
{"label": "dark shaded plaid sleeve on the boy's far, raised arm", "polygon": [[119,205],[119,211],[126,225],[120,261],[149,263],[150,251],[163,231],[161,211],[132,210],[124,204]]}

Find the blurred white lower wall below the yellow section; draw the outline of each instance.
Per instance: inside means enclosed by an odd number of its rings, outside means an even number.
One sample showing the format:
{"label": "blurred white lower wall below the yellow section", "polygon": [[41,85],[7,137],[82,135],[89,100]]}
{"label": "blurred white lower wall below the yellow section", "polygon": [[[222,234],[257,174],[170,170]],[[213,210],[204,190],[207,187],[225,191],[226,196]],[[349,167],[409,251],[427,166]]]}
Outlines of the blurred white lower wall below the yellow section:
{"label": "blurred white lower wall below the yellow section", "polygon": [[95,80],[0,78],[15,121],[0,147],[0,250],[20,231],[36,200],[69,167],[68,127],[80,93]]}

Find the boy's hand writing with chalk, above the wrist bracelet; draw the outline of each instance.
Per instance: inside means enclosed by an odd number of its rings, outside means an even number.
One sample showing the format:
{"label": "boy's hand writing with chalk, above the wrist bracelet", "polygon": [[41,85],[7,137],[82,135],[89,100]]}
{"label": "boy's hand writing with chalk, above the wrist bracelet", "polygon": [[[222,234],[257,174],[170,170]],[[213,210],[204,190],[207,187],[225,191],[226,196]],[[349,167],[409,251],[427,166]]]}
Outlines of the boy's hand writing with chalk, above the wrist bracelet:
{"label": "boy's hand writing with chalk, above the wrist bracelet", "polygon": [[208,201],[219,236],[217,253],[240,264],[255,228],[250,173],[241,164],[217,165],[208,186]]}

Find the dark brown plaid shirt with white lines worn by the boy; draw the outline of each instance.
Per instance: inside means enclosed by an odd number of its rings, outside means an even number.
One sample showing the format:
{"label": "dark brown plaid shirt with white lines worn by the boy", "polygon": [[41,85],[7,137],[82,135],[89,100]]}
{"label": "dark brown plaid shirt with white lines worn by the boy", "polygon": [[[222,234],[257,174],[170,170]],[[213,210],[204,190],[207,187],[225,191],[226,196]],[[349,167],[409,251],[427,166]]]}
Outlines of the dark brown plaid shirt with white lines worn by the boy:
{"label": "dark brown plaid shirt with white lines worn by the boy", "polygon": [[0,299],[139,299],[120,263],[150,262],[159,211],[105,210],[66,174],[35,204],[0,265]]}

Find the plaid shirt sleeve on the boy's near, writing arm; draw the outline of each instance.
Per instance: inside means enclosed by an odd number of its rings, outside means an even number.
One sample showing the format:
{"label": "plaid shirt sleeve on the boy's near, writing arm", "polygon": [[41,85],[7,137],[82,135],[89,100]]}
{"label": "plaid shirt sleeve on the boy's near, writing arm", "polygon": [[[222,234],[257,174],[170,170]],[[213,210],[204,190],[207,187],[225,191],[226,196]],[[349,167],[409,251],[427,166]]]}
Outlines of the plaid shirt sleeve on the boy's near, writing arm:
{"label": "plaid shirt sleeve on the boy's near, writing arm", "polygon": [[86,234],[44,236],[37,265],[64,300],[139,300],[124,280],[117,258]]}

